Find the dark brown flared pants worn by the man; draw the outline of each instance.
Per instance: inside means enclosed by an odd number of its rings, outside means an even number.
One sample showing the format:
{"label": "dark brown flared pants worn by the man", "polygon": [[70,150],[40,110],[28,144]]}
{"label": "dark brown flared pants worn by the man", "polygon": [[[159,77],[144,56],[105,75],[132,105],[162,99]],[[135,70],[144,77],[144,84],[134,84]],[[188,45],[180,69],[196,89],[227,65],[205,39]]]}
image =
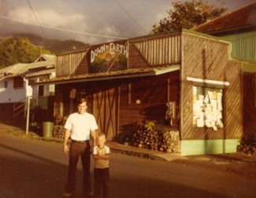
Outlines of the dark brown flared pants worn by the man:
{"label": "dark brown flared pants worn by the man", "polygon": [[68,181],[65,185],[65,192],[74,192],[76,188],[76,167],[78,159],[81,156],[83,165],[83,192],[91,192],[91,177],[90,177],[90,163],[91,152],[90,142],[75,142],[72,141],[69,151],[69,174]]}

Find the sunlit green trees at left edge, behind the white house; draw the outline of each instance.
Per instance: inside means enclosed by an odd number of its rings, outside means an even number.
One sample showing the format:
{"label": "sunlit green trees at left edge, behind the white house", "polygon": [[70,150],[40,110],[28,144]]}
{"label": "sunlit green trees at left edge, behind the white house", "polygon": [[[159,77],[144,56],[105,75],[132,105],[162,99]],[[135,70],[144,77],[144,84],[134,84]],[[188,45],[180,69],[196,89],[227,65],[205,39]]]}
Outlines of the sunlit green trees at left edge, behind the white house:
{"label": "sunlit green trees at left edge, behind the white house", "polygon": [[28,38],[12,37],[0,39],[0,68],[17,64],[32,63],[41,53],[50,51],[32,45]]}

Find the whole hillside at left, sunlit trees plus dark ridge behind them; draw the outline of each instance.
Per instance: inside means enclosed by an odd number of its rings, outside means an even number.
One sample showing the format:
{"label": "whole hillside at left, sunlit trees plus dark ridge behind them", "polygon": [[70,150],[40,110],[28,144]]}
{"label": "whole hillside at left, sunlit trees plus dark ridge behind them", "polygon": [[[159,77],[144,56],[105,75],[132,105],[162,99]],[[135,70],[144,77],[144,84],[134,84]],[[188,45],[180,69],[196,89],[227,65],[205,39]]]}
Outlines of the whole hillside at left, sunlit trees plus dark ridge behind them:
{"label": "whole hillside at left, sunlit trees plus dark ridge behind them", "polygon": [[56,54],[89,45],[73,40],[59,41],[40,38],[36,35],[17,35],[0,38],[0,69],[17,63],[32,63],[40,54]]}

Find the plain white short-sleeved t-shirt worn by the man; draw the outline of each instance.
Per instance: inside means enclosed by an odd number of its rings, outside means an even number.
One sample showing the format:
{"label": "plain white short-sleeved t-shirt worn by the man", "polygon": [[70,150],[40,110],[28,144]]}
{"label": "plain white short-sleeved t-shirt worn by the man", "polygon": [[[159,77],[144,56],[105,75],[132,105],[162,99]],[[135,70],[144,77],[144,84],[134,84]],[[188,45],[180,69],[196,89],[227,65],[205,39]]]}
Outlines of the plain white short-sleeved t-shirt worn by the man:
{"label": "plain white short-sleeved t-shirt worn by the man", "polygon": [[65,129],[71,130],[71,139],[75,141],[90,140],[91,130],[97,130],[95,116],[85,112],[72,113],[65,123]]}

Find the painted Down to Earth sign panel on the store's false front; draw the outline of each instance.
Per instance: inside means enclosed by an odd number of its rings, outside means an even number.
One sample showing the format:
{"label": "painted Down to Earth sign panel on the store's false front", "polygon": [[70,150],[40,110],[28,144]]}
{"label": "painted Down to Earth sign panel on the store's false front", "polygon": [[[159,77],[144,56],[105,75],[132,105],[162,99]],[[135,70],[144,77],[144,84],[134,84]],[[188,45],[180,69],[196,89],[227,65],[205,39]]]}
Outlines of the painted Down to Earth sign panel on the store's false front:
{"label": "painted Down to Earth sign panel on the store's false front", "polygon": [[90,73],[112,72],[127,69],[127,40],[91,46]]}

